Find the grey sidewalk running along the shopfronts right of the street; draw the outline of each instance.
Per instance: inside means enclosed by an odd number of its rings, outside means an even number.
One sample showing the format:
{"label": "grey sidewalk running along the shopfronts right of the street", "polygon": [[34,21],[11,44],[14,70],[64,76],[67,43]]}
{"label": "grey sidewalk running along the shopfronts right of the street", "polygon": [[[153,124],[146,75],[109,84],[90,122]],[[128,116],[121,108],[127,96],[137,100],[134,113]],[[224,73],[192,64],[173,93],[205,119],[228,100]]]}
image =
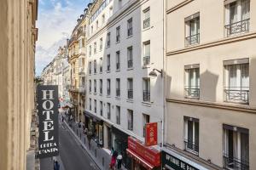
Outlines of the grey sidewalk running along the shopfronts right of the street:
{"label": "grey sidewalk running along the shopfronts right of the street", "polygon": [[[96,165],[102,170],[109,169],[109,163],[111,161],[110,151],[97,146],[93,139],[90,140],[89,145],[87,136],[83,133],[83,128],[79,128],[76,122],[72,122],[71,127],[66,121],[64,121],[64,123],[73,133],[75,138],[78,139],[79,143],[83,149],[87,151],[91,159],[96,162]],[[125,170],[125,167],[122,167],[121,169]]]}

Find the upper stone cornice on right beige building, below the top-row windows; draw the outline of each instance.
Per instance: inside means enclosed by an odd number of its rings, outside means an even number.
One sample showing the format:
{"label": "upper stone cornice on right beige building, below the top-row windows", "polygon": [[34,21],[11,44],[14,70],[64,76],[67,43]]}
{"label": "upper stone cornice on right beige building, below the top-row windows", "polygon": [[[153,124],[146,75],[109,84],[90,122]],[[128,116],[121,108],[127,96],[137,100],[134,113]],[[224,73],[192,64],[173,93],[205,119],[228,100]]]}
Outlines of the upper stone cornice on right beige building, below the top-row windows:
{"label": "upper stone cornice on right beige building, below the top-row windows", "polygon": [[175,55],[175,54],[183,54],[183,53],[195,51],[195,50],[202,49],[202,48],[212,48],[215,46],[224,45],[224,44],[228,44],[228,43],[232,43],[232,42],[241,42],[241,41],[245,41],[245,40],[253,39],[253,38],[256,38],[256,31],[245,33],[245,34],[242,34],[242,35],[239,35],[236,37],[225,37],[225,38],[222,38],[217,41],[201,43],[201,44],[191,46],[188,48],[173,50],[173,51],[167,52],[166,56],[171,56],[171,55]]}

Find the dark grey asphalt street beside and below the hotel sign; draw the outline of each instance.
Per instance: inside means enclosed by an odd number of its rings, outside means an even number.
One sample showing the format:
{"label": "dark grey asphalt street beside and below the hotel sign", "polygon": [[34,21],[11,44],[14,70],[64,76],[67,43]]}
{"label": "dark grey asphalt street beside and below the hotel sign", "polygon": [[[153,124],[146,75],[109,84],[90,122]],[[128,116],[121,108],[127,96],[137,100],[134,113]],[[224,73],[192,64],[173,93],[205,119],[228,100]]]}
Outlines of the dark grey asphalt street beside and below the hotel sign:
{"label": "dark grey asphalt street beside and below the hotel sign", "polygon": [[[60,156],[61,156],[61,170],[97,170],[94,161],[81,147],[79,142],[74,138],[73,134],[68,130],[65,123],[59,124],[60,135]],[[49,158],[41,160],[42,170],[53,169],[53,163]]]}

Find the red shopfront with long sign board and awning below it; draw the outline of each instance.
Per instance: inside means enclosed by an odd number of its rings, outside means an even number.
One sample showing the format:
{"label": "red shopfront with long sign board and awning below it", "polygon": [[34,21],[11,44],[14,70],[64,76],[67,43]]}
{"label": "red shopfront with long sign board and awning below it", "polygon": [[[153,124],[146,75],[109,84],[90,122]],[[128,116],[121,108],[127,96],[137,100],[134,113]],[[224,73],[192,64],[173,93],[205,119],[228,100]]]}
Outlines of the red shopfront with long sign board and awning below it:
{"label": "red shopfront with long sign board and awning below it", "polygon": [[128,137],[126,153],[131,157],[132,170],[160,169],[160,150],[156,150],[152,146],[146,146],[131,136]]}

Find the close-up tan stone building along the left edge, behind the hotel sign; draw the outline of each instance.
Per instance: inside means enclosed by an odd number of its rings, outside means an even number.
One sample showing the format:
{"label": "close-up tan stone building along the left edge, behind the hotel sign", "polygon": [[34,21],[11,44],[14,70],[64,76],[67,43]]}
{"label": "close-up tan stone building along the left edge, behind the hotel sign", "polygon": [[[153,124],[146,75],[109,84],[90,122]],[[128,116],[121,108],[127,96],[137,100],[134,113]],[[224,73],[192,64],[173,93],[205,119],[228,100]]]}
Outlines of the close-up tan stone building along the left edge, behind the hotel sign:
{"label": "close-up tan stone building along the left edge, behind the hotel sign", "polygon": [[38,0],[1,1],[0,169],[3,170],[28,168],[26,155],[37,147],[35,133],[31,132],[35,130],[32,119],[37,17]]}

